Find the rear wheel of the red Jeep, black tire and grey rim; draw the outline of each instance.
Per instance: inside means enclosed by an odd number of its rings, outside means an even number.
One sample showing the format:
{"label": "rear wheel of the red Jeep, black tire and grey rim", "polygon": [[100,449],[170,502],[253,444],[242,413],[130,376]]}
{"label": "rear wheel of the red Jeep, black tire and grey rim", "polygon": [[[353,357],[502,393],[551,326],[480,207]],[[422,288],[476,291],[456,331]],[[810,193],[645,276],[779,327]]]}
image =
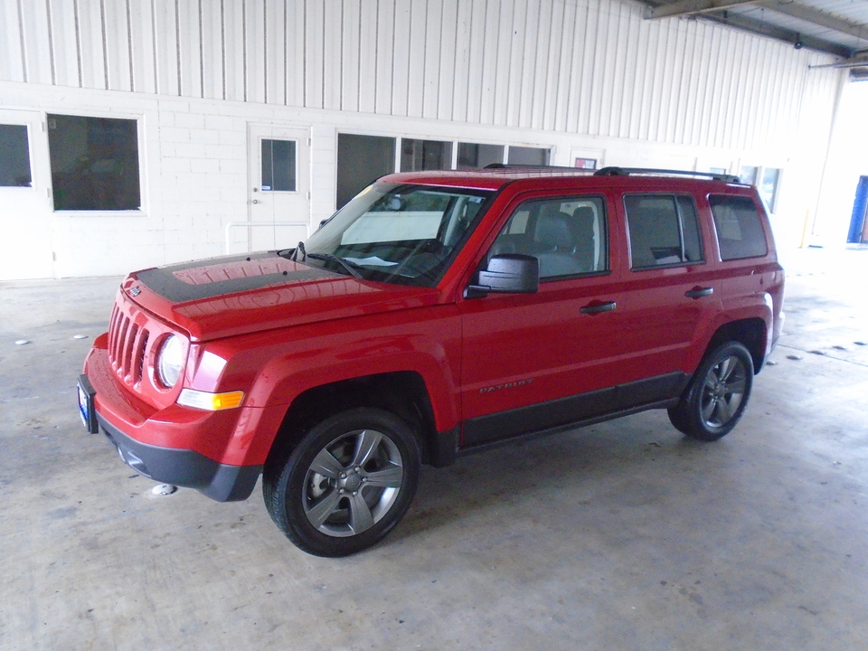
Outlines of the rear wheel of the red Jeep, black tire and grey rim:
{"label": "rear wheel of the red Jeep, black tire and grey rim", "polygon": [[681,400],[669,409],[669,420],[693,439],[720,439],[741,420],[752,386],[748,349],[738,342],[723,344],[705,355]]}

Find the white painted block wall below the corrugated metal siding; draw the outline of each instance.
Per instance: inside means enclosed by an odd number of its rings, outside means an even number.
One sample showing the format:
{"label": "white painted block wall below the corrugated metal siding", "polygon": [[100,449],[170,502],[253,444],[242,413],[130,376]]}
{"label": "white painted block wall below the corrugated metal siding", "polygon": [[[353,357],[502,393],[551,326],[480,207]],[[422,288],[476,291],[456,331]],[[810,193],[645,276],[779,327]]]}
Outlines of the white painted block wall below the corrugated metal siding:
{"label": "white painted block wall below the corrugated metal siding", "polygon": [[[139,120],[144,205],[141,212],[52,212],[50,202],[42,202],[40,210],[44,213],[39,216],[51,224],[50,231],[45,232],[43,245],[56,257],[54,275],[58,277],[122,274],[132,269],[222,254],[226,224],[249,219],[252,187],[249,124],[273,124],[309,132],[309,218],[314,228],[335,211],[339,132],[549,146],[554,165],[571,165],[571,150],[581,148],[602,152],[600,165],[637,165],[641,161],[676,159],[702,161],[713,156],[716,161],[726,161],[732,171],[747,157],[764,160],[770,166],[804,165],[808,168],[825,156],[823,143],[813,146],[813,140],[807,140],[807,148],[791,152],[787,159],[778,151],[662,145],[555,131],[211,99],[172,99],[144,93],[54,88],[11,81],[0,82],[0,109],[24,110],[27,115],[41,120],[46,113]],[[34,169],[34,178],[50,179],[47,134],[36,124],[32,129],[32,147],[42,152],[41,158],[37,158],[45,168]],[[797,140],[794,135],[794,142]],[[788,184],[788,195],[781,197],[782,204],[816,205],[816,192],[816,187],[806,189]],[[803,209],[799,208],[799,212],[797,224],[801,224],[804,215]],[[8,215],[3,216],[8,218]],[[233,233],[233,241],[246,241],[243,231]],[[15,251],[15,255],[27,256],[28,251]]]}

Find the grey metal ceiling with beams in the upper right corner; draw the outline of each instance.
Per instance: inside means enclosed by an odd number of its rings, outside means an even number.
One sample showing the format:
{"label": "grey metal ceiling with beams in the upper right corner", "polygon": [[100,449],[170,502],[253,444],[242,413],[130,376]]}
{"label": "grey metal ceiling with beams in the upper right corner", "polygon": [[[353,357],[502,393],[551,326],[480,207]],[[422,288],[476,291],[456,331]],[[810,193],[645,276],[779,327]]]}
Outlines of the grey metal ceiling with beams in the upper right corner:
{"label": "grey metal ceiling with beams in the upper right corner", "polygon": [[868,0],[645,0],[646,18],[696,17],[828,52],[868,79]]}

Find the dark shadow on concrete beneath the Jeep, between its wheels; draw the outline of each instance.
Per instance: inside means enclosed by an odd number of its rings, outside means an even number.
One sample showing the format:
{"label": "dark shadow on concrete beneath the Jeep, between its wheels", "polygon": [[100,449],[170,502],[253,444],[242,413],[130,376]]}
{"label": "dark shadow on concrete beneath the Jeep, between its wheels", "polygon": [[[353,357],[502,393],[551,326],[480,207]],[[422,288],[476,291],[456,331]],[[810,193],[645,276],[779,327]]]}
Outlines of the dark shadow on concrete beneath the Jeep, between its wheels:
{"label": "dark shadow on concrete beneath the Jeep, between its wheels", "polygon": [[[651,504],[684,486],[685,475],[704,476],[706,462],[726,447],[688,439],[668,426],[665,412],[647,412],[423,467],[410,512],[385,544],[495,511],[508,518],[530,506],[545,517],[545,509],[565,505]],[[677,484],[669,478],[675,473]]]}

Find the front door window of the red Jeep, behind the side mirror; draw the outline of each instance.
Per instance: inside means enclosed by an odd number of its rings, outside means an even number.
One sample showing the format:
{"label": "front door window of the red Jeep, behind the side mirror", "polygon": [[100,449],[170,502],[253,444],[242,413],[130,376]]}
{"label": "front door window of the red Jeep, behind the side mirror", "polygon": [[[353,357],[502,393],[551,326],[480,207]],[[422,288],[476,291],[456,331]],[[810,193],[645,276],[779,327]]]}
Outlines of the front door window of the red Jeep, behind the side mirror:
{"label": "front door window of the red Jeep, behind the side mirror", "polygon": [[525,202],[497,236],[488,258],[521,253],[540,260],[540,279],[605,271],[609,265],[602,197]]}

